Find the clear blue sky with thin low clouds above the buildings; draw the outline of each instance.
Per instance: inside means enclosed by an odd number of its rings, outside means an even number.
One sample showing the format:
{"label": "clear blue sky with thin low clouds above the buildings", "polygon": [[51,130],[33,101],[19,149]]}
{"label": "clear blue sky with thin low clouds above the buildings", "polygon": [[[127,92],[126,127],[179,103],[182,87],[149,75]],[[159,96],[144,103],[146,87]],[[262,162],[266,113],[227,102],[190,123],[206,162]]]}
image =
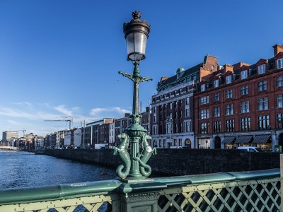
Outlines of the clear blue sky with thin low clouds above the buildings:
{"label": "clear blue sky with thin low clouds above the buildings", "polygon": [[[219,65],[254,64],[283,44],[282,0],[0,0],[0,132],[45,136],[132,112],[132,73],[122,25],[141,11],[151,24],[139,69],[146,107],[161,76],[212,54]],[[23,132],[19,131],[20,136]]]}

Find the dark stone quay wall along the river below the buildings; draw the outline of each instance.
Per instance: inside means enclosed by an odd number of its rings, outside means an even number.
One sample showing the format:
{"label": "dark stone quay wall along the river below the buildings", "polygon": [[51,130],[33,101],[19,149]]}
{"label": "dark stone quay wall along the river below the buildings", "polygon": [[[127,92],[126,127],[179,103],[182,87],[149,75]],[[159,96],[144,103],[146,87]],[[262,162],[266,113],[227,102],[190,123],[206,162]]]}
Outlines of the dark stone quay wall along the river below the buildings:
{"label": "dark stone quay wall along the river below the buildings", "polygon": [[[111,149],[45,150],[45,155],[117,167],[122,161]],[[280,167],[279,153],[250,153],[224,149],[157,149],[147,163],[157,175],[201,175],[215,172],[243,172]]]}

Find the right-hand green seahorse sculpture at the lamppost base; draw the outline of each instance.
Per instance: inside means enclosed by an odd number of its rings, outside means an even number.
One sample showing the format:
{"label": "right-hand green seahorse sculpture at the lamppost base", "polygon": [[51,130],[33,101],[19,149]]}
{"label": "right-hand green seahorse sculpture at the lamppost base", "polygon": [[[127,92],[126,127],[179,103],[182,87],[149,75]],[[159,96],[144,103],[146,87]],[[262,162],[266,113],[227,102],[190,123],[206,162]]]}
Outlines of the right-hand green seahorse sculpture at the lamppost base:
{"label": "right-hand green seahorse sculpture at the lamppost base", "polygon": [[141,172],[141,175],[143,175],[144,177],[149,177],[149,175],[151,174],[151,167],[147,165],[146,162],[149,160],[151,155],[156,154],[156,148],[151,148],[151,146],[149,146],[149,143],[147,142],[147,140],[150,139],[151,136],[147,134],[142,137],[142,152],[134,158],[134,160],[139,161],[139,172]]}

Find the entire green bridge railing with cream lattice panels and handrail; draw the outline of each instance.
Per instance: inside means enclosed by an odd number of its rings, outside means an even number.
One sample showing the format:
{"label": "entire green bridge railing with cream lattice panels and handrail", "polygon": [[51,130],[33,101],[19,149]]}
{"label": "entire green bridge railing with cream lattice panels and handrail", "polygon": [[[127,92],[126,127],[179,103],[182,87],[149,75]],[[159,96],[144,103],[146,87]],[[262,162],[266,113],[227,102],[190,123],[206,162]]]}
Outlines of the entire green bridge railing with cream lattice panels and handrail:
{"label": "entire green bridge railing with cream lattice panels and handrail", "polygon": [[0,211],[280,211],[280,170],[0,189]]}

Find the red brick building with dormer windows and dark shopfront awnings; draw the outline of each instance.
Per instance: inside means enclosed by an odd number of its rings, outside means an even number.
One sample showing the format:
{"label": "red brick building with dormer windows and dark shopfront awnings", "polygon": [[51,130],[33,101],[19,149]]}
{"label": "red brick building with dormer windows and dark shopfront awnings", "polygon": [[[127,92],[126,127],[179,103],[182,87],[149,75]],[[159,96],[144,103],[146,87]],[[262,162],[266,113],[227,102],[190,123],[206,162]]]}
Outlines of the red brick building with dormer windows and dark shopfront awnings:
{"label": "red brick building with dormer windows and dark shopfront awnings", "polygon": [[283,46],[255,64],[218,66],[195,93],[198,148],[283,145]]}

